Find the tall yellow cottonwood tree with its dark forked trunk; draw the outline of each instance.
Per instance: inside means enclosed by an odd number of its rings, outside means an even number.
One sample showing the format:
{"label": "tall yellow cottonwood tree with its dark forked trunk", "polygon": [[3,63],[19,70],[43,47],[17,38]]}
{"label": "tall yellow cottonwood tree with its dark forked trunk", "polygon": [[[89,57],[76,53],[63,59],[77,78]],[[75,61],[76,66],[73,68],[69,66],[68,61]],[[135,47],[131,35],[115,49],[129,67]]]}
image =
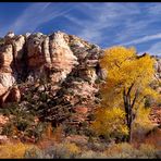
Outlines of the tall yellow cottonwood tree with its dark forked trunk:
{"label": "tall yellow cottonwood tree with its dark forked trunk", "polygon": [[[137,55],[135,48],[119,46],[104,51],[100,65],[107,71],[106,83],[100,89],[102,95],[100,109],[124,110],[128,141],[131,141],[132,124],[137,109],[147,96],[156,96],[149,86],[153,79],[154,60],[147,53]],[[98,124],[97,119],[96,124]]]}

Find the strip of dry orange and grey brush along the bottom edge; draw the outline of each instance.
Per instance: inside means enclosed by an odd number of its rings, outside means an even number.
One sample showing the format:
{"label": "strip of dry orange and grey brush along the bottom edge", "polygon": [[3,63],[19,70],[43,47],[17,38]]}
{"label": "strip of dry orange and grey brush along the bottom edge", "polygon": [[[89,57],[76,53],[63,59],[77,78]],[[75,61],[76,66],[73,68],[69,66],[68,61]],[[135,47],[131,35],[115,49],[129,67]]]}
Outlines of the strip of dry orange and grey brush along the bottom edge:
{"label": "strip of dry orange and grey brush along the bottom edge", "polygon": [[[55,131],[57,132],[57,131]],[[61,132],[60,129],[58,131]],[[36,145],[27,145],[20,141],[8,143],[0,145],[1,159],[22,159],[22,158],[37,158],[37,159],[70,159],[70,158],[160,158],[160,147],[154,144],[160,143],[160,133],[150,135],[145,139],[144,144],[135,147],[134,144],[106,144],[94,141],[76,144],[73,140],[60,141],[58,134],[49,135],[49,138],[41,140]],[[57,140],[57,139],[58,140]],[[106,146],[104,146],[106,144]],[[158,145],[159,146],[159,145]]]}

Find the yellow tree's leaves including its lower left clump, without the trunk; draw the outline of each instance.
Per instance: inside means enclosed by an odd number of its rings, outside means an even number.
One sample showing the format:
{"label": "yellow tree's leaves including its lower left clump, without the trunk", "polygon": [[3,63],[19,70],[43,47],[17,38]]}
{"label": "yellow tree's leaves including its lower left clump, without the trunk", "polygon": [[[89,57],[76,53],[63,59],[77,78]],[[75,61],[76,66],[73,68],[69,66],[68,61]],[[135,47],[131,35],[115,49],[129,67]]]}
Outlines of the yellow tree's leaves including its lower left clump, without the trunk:
{"label": "yellow tree's leaves including its lower left clump, without the trunk", "polygon": [[[98,109],[92,127],[98,134],[127,134],[125,113],[122,111],[123,91],[125,95],[128,92],[131,104],[135,102],[134,112],[144,104],[146,96],[157,97],[149,86],[153,79],[154,60],[149,54],[137,55],[135,48],[119,46],[104,51],[100,65],[107,72],[107,81],[100,89],[103,108]],[[147,117],[146,112],[139,112],[140,117]]]}

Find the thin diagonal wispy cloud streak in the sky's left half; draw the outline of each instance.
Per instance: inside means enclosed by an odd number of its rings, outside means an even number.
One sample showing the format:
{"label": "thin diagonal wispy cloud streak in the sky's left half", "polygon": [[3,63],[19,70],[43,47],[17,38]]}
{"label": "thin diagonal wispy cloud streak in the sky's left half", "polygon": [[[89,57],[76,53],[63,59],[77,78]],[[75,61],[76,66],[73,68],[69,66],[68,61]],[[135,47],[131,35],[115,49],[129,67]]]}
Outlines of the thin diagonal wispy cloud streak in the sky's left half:
{"label": "thin diagonal wispy cloud streak in the sky's left half", "polygon": [[4,34],[8,30],[14,30],[16,34],[34,32],[39,25],[62,16],[72,9],[73,7],[64,5],[63,3],[33,3],[11,25],[2,28],[0,34]]}

